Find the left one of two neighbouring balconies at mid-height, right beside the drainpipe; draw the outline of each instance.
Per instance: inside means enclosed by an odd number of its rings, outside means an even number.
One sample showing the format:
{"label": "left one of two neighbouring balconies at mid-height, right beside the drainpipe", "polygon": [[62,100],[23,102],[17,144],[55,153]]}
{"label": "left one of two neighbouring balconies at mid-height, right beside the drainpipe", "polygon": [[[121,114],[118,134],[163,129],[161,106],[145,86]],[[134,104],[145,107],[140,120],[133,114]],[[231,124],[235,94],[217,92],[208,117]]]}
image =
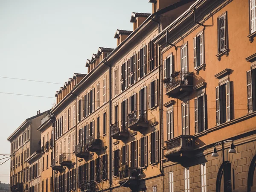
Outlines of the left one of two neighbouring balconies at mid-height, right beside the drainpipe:
{"label": "left one of two neighbouring balconies at mid-height, right beside the drainpipe", "polygon": [[128,128],[124,121],[119,121],[111,126],[111,137],[116,140],[129,137]]}

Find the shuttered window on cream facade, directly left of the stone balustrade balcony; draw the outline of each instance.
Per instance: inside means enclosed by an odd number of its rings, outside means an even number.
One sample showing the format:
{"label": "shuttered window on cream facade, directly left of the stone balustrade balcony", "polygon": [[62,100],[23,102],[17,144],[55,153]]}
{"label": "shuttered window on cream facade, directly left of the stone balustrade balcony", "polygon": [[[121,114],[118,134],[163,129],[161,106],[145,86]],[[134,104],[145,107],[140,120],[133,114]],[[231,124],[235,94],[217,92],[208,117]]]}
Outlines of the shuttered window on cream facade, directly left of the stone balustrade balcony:
{"label": "shuttered window on cream facade, directly left of the stone balustrade balcony", "polygon": [[150,158],[150,164],[158,163],[159,157],[159,140],[158,140],[158,133],[159,131],[155,131],[151,133],[149,137],[149,158]]}

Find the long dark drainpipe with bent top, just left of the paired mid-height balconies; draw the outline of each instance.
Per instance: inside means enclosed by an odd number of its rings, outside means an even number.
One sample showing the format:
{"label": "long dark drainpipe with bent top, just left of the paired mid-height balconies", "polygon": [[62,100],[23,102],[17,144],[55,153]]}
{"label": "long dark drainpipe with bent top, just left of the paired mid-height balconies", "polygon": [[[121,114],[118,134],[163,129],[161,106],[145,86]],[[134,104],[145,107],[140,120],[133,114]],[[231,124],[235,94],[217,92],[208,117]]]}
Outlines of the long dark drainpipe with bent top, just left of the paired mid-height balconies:
{"label": "long dark drainpipe with bent top, just left of the paired mid-height balconies", "polygon": [[[111,113],[111,109],[112,109],[112,84],[111,84],[111,65],[107,63],[107,59],[104,58],[103,60],[103,64],[107,65],[109,67],[109,125],[111,125],[112,123],[112,113]],[[109,127],[109,186],[110,186],[110,192],[112,192],[112,137],[110,134],[110,127]]]}

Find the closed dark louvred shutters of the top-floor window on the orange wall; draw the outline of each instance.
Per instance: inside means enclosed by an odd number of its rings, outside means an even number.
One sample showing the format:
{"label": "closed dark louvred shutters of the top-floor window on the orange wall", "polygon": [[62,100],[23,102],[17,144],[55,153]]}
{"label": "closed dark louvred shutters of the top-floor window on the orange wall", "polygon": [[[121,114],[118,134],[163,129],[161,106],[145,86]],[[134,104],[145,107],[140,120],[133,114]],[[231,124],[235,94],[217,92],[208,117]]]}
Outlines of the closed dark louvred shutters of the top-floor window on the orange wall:
{"label": "closed dark louvred shutters of the top-floor window on the orange wall", "polygon": [[227,49],[227,34],[226,34],[226,15],[218,18],[218,29],[219,29],[219,52]]}

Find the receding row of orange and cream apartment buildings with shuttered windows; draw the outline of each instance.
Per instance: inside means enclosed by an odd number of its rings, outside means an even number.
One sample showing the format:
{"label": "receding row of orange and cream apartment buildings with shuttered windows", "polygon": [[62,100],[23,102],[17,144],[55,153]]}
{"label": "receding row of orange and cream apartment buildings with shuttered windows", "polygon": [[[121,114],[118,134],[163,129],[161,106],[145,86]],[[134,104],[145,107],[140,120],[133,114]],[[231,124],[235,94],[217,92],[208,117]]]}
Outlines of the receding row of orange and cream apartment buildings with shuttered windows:
{"label": "receding row of orange and cream apartment buildings with shuttered windows", "polygon": [[8,138],[13,192],[256,191],[256,0],[149,2]]}

